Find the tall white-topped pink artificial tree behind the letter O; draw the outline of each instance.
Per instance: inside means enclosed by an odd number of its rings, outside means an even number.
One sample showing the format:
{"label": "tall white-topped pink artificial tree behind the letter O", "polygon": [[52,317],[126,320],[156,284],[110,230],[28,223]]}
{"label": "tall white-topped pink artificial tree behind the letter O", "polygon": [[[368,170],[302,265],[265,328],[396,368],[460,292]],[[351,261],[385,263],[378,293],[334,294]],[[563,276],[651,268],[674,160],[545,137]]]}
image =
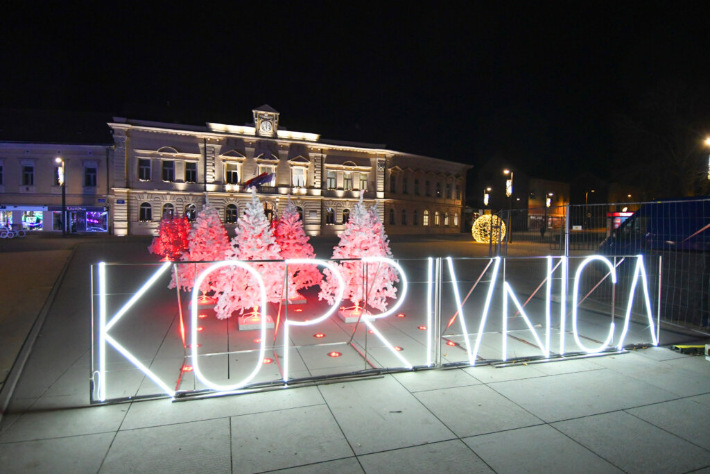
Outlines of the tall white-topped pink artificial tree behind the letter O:
{"label": "tall white-topped pink artificial tree behind the letter O", "polygon": [[[225,254],[226,260],[280,260],[280,248],[271,232],[263,205],[251,191],[251,203],[246,205],[244,217],[236,223],[236,236],[231,240],[231,249]],[[281,299],[284,265],[278,263],[254,264],[266,286],[268,301]],[[225,319],[234,311],[244,311],[261,304],[259,286],[248,271],[236,266],[220,271],[215,284],[219,291],[214,311],[217,318]]]}

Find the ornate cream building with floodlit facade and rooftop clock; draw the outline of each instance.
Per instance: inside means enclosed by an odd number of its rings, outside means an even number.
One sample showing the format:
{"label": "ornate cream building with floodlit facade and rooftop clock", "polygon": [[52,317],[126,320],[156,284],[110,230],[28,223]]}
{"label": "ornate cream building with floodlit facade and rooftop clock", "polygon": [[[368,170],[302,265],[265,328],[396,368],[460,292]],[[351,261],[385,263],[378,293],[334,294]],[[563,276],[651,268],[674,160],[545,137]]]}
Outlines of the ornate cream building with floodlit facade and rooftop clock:
{"label": "ornate cream building with floodlit facade and rooftop clock", "polygon": [[114,118],[111,222],[116,235],[151,235],[166,214],[194,219],[204,203],[234,227],[258,187],[268,217],[288,199],[309,235],[339,235],[364,190],[389,235],[461,232],[469,165],[321,139],[279,126],[268,105],[253,109],[253,124],[186,126]]}

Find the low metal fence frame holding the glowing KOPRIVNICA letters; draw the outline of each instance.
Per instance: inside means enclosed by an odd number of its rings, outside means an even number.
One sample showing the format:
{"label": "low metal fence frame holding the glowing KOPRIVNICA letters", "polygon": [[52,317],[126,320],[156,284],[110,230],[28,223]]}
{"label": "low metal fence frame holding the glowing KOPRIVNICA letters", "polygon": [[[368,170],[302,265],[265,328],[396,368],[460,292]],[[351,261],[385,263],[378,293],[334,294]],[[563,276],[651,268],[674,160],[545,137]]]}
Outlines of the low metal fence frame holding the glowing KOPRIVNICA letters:
{"label": "low metal fence frame holding the glowing KOPRIVNICA letters", "polygon": [[[341,271],[334,264],[343,261],[310,262]],[[660,328],[662,286],[649,257],[349,261],[363,276],[355,288],[362,295],[373,290],[370,282],[383,268],[393,271],[386,308],[348,307],[339,297],[348,292],[339,293],[344,285],[338,284],[332,301],[320,299],[318,286],[303,291],[302,301],[266,303],[263,293],[258,313],[245,310],[220,320],[219,304],[200,296],[204,275],[233,266],[261,282],[236,296],[258,296],[265,286],[256,275],[266,279],[274,267],[288,286],[288,264],[93,265],[92,403],[180,400],[383,372],[543,362],[659,340],[668,344],[677,337]],[[169,288],[180,271],[192,274],[196,291]],[[288,288],[277,294],[289,294]]]}

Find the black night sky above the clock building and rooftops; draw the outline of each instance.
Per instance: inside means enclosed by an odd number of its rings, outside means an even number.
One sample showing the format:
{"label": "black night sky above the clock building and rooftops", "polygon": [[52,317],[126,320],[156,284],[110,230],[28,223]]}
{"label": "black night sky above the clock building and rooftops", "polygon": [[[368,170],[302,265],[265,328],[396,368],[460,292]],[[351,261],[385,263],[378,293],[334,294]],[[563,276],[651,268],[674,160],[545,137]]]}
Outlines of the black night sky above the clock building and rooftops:
{"label": "black night sky above the clock building and rooftops", "polygon": [[708,2],[94,3],[4,15],[0,107],[244,124],[268,103],[328,139],[604,178],[614,117],[710,81]]}

